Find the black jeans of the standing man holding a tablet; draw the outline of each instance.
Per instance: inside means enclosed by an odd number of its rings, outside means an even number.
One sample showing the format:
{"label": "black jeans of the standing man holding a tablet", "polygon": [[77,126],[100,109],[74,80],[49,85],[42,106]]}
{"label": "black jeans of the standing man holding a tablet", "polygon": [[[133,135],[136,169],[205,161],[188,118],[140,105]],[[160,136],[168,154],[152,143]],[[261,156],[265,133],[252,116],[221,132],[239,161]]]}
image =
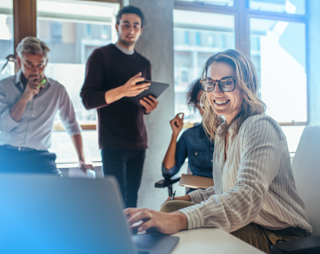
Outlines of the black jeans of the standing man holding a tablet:
{"label": "black jeans of the standing man holding a tablet", "polygon": [[119,181],[125,207],[137,207],[146,150],[102,149],[104,175],[114,175]]}

